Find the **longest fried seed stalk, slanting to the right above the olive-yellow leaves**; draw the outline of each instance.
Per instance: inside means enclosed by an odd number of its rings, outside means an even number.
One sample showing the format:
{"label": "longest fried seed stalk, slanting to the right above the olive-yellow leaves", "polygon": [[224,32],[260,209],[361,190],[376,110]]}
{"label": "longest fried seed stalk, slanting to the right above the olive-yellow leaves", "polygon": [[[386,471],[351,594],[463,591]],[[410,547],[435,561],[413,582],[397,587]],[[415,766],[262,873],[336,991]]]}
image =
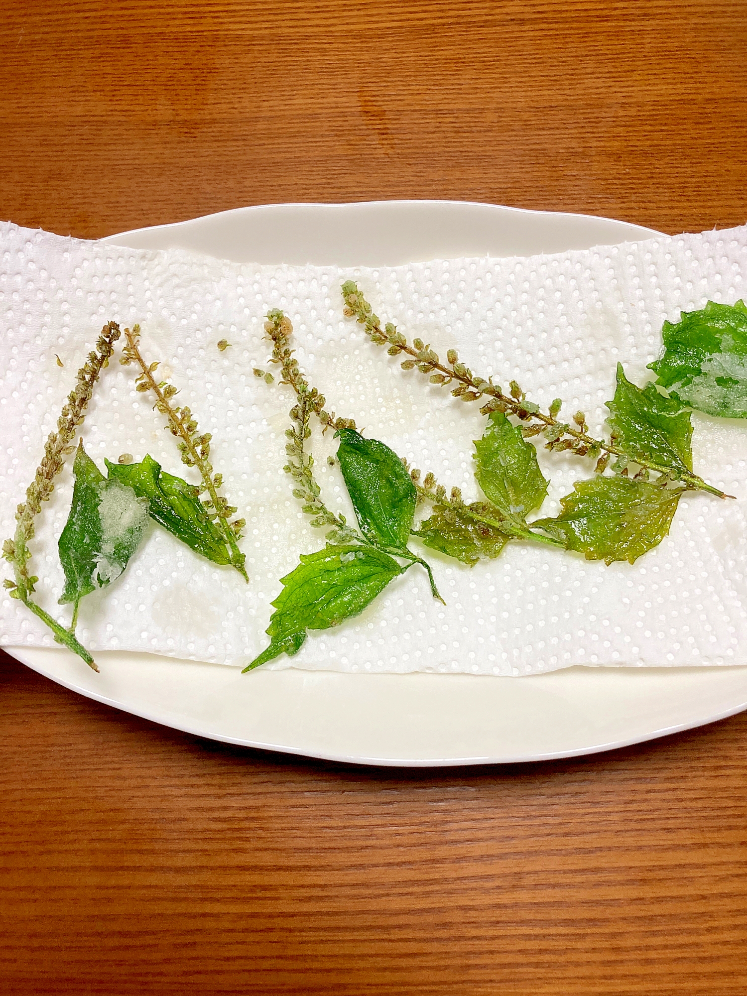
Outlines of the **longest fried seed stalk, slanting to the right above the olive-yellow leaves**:
{"label": "longest fried seed stalk, slanting to the right above the olive-yellow leaves", "polygon": [[733,497],[708,484],[685,466],[673,466],[640,452],[631,454],[622,446],[616,432],[612,433],[609,440],[594,438],[589,434],[583,411],[577,411],[571,422],[561,421],[558,418],[563,403],[561,398],[556,398],[548,411],[544,412],[538,404],[527,398],[515,380],[511,380],[510,393],[506,394],[498,384],[493,383],[492,377],[485,379],[472,373],[459,361],[456,350],[449,350],[446,354],[447,363],[441,363],[438,355],[422,340],[414,339],[410,345],[391,322],[384,323],[382,328],[379,318],[373,314],[372,306],[355,281],[348,280],[343,284],[343,298],[346,316],[355,318],[363,325],[366,335],[373,343],[387,346],[389,356],[404,354],[408,357],[401,364],[403,370],[417,368],[420,373],[428,376],[431,383],[449,385],[456,382],[456,386],[451,388],[454,397],[468,402],[485,399],[480,408],[482,414],[500,411],[516,416],[522,422],[524,436],[530,438],[543,435],[546,449],[569,450],[576,456],[594,459],[598,473],[602,473],[611,459],[616,457],[613,469],[622,476],[627,476],[628,464],[635,464],[640,468],[637,471],[638,479],[647,479],[648,473],[652,471],[667,480],[679,480],[690,490],[707,491],[719,498]]}

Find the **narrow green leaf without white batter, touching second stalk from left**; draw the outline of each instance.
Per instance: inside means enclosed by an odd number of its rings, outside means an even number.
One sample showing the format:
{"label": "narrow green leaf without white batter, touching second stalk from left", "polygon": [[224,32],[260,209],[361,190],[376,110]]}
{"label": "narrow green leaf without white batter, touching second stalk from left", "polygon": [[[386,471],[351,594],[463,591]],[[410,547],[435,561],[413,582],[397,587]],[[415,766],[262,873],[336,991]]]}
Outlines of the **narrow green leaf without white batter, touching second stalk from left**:
{"label": "narrow green leaf without white batter, touching second stalk from left", "polygon": [[138,498],[146,498],[150,518],[172,536],[213,564],[231,563],[223,534],[205,511],[197,488],[165,473],[151,456],[139,463],[106,462],[109,479],[130,487]]}

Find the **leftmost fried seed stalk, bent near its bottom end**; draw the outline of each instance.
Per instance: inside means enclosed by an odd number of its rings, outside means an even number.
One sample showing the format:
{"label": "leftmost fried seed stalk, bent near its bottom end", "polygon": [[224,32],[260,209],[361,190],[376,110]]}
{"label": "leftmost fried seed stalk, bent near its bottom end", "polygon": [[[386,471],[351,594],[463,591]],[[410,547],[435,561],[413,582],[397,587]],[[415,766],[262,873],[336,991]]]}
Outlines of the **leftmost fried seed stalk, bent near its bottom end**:
{"label": "leftmost fried seed stalk, bent near its bottom end", "polygon": [[49,501],[55,490],[55,478],[63,468],[65,457],[75,449],[73,441],[76,429],[83,424],[86,409],[94,394],[94,387],[101,372],[109,366],[110,357],[114,353],[114,344],[120,335],[120,327],[116,322],[105,325],[96,349],[89,354],[88,360],[78,371],[76,385],[57,420],[57,431],[51,432],[48,436],[44,446],[44,458],[37,468],[33,482],[26,489],[26,501],[18,506],[15,536],[12,540],[6,540],[3,545],[3,556],[13,565],[15,575],[15,580],[8,579],[4,582],[5,588],[10,590],[10,597],[18,599],[42,622],[45,622],[55,634],[56,642],[73,650],[95,671],[99,670],[96,661],[86,647],[76,639],[73,628],[67,629],[57,622],[31,598],[39,578],[29,572],[31,561],[29,543],[34,538],[34,520],[41,512],[42,502]]}

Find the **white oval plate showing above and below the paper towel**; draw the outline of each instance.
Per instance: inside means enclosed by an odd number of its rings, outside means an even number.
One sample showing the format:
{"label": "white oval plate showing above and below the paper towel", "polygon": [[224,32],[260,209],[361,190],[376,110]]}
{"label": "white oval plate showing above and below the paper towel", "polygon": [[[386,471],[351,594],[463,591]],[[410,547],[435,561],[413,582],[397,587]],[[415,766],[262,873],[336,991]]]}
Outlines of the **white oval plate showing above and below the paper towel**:
{"label": "white oval plate showing above and below the paper towel", "polygon": [[[274,204],[113,235],[236,262],[396,266],[587,249],[657,234],[609,218],[457,201]],[[155,654],[10,648],[74,691],[227,743],[363,764],[538,761],[611,750],[747,708],[747,667],[589,668],[509,678],[257,671]]]}

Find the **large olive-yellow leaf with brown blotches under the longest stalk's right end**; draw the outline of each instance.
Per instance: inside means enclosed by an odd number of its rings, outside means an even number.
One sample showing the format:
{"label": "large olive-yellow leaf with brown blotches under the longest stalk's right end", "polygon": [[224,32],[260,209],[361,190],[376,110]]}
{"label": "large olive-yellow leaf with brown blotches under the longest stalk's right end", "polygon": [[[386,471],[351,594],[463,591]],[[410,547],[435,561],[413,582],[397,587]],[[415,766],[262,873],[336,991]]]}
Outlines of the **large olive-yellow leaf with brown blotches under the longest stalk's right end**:
{"label": "large olive-yellow leaf with brown blotches under the longest stalk's right end", "polygon": [[628,561],[658,546],[669,532],[682,488],[667,489],[627,477],[577,481],[561,499],[555,519],[538,519],[533,529],[563,540],[587,560]]}

